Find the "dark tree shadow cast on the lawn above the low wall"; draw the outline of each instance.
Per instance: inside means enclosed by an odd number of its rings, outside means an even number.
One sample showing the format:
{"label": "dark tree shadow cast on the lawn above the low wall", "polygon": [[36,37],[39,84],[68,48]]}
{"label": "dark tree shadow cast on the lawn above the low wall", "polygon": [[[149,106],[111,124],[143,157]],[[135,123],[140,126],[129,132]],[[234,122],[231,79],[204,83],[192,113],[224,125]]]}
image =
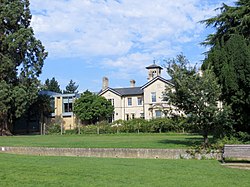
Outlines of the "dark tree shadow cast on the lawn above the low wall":
{"label": "dark tree shadow cast on the lawn above the low wall", "polygon": [[165,139],[165,140],[159,141],[158,143],[175,144],[175,145],[182,145],[185,147],[191,147],[191,146],[201,145],[203,143],[203,138],[184,138],[181,140]]}

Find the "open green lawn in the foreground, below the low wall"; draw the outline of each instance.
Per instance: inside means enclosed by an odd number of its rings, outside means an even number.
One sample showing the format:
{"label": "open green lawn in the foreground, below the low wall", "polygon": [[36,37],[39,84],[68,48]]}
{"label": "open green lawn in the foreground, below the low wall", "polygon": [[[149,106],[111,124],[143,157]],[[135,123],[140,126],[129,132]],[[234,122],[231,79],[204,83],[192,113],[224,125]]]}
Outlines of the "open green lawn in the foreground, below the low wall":
{"label": "open green lawn in the foreground, below the low wall", "polygon": [[250,171],[215,160],[0,154],[0,186],[249,186]]}

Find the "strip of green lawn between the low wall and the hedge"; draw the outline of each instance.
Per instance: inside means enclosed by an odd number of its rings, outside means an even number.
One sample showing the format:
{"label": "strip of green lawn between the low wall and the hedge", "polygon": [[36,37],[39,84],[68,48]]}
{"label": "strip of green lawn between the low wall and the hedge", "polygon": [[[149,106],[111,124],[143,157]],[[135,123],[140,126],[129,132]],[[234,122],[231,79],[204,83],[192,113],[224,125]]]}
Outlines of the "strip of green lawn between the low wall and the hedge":
{"label": "strip of green lawn between the low wall and the hedge", "polygon": [[182,134],[37,135],[0,137],[0,146],[165,149],[188,148],[202,141],[201,136]]}

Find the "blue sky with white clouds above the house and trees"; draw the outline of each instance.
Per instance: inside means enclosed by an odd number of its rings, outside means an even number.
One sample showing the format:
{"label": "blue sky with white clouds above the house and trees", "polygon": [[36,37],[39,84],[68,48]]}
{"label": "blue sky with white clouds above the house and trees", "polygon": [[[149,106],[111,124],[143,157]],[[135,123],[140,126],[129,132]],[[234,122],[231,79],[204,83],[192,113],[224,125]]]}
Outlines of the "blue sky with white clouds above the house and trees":
{"label": "blue sky with white clouds above the house and trees", "polygon": [[[55,77],[61,89],[72,79],[78,91],[100,91],[147,82],[146,66],[164,66],[183,53],[202,63],[200,45],[214,32],[199,21],[235,0],[30,0],[31,26],[48,52],[41,81]],[[168,79],[166,70],[162,76]]]}

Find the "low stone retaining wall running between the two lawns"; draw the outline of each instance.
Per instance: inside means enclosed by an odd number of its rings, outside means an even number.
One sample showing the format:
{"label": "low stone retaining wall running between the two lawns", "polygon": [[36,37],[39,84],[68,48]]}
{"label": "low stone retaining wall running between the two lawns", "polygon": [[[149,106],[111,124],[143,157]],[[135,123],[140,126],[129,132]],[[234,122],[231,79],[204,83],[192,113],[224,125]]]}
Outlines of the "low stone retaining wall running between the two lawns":
{"label": "low stone retaining wall running between the two lawns", "polygon": [[128,149],[128,148],[46,148],[0,147],[0,152],[40,156],[82,156],[109,158],[159,159],[221,159],[221,154],[190,154],[185,149]]}

